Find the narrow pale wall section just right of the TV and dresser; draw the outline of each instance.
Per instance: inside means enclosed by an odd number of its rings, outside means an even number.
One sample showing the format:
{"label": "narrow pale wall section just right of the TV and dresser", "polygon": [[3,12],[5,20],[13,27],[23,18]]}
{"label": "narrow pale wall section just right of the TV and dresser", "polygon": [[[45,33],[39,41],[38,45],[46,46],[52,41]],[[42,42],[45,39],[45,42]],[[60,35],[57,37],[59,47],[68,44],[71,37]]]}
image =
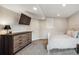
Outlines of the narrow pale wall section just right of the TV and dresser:
{"label": "narrow pale wall section just right of the TV and dresser", "polygon": [[31,26],[32,34],[33,34],[32,39],[33,40],[40,39],[40,37],[39,37],[39,28],[40,28],[39,27],[39,20],[32,19],[30,26]]}

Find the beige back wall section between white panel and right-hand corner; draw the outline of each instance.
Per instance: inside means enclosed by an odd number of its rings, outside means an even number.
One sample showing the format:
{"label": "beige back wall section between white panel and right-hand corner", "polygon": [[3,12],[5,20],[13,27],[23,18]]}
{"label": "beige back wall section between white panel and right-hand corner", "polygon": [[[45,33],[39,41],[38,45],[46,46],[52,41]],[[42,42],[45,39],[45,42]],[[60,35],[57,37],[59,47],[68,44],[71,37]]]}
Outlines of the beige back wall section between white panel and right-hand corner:
{"label": "beige back wall section between white panel and right-hand corner", "polygon": [[56,28],[58,31],[65,33],[68,26],[68,20],[65,18],[55,18],[55,25],[54,28]]}

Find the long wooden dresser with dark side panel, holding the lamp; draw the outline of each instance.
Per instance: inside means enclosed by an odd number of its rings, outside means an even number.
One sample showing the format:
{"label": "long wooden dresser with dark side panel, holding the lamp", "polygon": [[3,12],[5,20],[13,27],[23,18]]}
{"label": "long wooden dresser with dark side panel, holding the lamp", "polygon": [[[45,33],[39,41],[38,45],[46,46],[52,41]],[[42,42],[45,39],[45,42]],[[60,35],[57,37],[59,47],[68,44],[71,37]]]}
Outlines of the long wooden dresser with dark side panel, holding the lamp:
{"label": "long wooden dresser with dark side panel, holding the lamp", "polygon": [[0,54],[12,55],[32,42],[32,32],[0,35]]}

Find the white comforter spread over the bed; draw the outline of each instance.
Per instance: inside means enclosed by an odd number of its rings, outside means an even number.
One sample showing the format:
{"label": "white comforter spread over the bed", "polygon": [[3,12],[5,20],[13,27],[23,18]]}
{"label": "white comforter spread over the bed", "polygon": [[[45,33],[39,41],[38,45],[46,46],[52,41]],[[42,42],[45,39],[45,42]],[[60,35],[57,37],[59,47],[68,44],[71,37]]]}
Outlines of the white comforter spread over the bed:
{"label": "white comforter spread over the bed", "polygon": [[77,39],[69,37],[67,35],[54,35],[48,38],[47,49],[67,49],[76,48]]}

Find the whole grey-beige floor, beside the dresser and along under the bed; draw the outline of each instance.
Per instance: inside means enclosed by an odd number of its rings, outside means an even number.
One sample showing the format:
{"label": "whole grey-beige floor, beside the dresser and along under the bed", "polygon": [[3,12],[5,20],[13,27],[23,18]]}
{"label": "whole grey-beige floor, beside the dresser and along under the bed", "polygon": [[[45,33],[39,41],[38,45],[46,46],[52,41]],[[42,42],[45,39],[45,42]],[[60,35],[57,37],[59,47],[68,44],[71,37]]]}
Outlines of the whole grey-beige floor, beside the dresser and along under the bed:
{"label": "whole grey-beige floor, beside the dresser and along under the bed", "polygon": [[[47,40],[36,40],[16,53],[16,55],[48,55],[46,46]],[[50,51],[50,55],[77,55],[77,53],[74,49],[54,49]]]}

